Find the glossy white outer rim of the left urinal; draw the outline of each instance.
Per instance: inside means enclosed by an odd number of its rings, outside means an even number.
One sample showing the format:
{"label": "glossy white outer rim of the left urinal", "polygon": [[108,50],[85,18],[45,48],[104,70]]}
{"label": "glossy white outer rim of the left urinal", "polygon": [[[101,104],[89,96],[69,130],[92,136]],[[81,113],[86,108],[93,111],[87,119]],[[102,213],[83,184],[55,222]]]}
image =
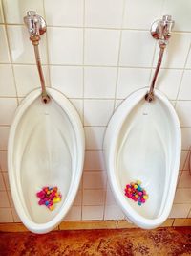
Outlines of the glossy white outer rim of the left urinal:
{"label": "glossy white outer rim of the left urinal", "polygon": [[16,128],[25,113],[25,111],[32,105],[33,101],[38,98],[41,95],[41,89],[37,88],[34,89],[21,103],[21,105],[18,106],[16,109],[14,120],[11,124],[10,129],[10,135],[9,135],[9,141],[8,141],[8,170],[9,170],[9,180],[11,184],[11,196],[14,202],[14,206],[16,209],[16,212],[18,213],[19,218],[24,223],[24,225],[31,230],[33,233],[47,233],[53,228],[59,224],[60,221],[63,220],[63,218],[68,213],[70,207],[73,204],[74,198],[76,196],[76,192],[79,187],[79,183],[81,180],[82,172],[83,172],[83,164],[84,164],[84,151],[85,151],[85,135],[84,135],[84,129],[81,123],[81,120],[79,118],[79,115],[77,111],[74,109],[74,105],[66,98],[65,95],[63,95],[60,91],[54,88],[47,88],[47,92],[50,95],[51,98],[63,109],[63,111],[67,114],[75,133],[76,138],[76,147],[77,147],[77,166],[76,166],[76,176],[74,179],[74,184],[72,187],[72,194],[73,197],[68,197],[66,201],[64,202],[64,205],[60,208],[60,211],[57,213],[57,215],[53,218],[52,221],[48,221],[46,223],[36,223],[28,217],[28,215],[25,213],[22,202],[19,198],[19,192],[15,193],[15,189],[17,188],[14,177],[13,177],[13,166],[12,166],[12,155],[13,155],[13,145],[14,145],[14,137],[15,137],[15,131]]}

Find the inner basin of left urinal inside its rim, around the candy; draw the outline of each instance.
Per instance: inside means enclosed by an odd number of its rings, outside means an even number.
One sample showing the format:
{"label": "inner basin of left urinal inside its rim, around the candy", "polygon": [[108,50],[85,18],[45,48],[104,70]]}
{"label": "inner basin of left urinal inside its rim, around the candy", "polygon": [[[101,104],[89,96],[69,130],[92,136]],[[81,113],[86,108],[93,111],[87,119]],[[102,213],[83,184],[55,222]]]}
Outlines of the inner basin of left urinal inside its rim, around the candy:
{"label": "inner basin of left urinal inside its rim, around the candy", "polygon": [[[51,221],[67,197],[74,170],[74,130],[67,115],[53,100],[44,105],[38,97],[16,129],[14,146],[14,168],[20,170],[18,185],[27,210],[35,222]],[[52,212],[37,203],[35,193],[44,186],[57,186],[63,196]]]}

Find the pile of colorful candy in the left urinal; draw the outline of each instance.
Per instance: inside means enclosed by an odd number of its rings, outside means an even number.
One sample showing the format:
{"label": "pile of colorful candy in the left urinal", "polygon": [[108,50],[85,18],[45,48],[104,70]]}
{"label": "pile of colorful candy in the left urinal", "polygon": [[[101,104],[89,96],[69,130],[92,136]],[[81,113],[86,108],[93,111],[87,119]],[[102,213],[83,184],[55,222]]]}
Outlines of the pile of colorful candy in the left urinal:
{"label": "pile of colorful candy in the left urinal", "polygon": [[62,198],[57,187],[44,187],[36,193],[36,196],[40,198],[38,204],[47,206],[51,211],[54,209],[54,203],[59,202]]}

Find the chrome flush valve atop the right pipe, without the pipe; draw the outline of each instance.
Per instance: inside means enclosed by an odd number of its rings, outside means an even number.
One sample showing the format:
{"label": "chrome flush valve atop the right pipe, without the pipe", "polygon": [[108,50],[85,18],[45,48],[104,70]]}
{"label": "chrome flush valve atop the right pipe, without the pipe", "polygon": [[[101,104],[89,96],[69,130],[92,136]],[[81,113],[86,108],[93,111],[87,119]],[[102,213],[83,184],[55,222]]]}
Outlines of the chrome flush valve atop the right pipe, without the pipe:
{"label": "chrome flush valve atop the right pipe, without the pipe", "polygon": [[167,45],[175,22],[171,15],[163,15],[162,19],[156,20],[151,26],[151,35],[159,40],[159,45]]}

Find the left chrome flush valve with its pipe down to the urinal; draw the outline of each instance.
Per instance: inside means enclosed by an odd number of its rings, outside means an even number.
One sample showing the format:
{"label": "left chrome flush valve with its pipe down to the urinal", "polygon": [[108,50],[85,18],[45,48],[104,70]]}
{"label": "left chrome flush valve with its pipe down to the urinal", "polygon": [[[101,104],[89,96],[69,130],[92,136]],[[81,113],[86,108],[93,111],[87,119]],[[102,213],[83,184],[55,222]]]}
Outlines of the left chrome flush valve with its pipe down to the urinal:
{"label": "left chrome flush valve with its pipe down to the urinal", "polygon": [[24,23],[28,28],[30,40],[32,41],[32,45],[34,48],[36,65],[37,65],[38,74],[40,77],[40,83],[42,87],[42,101],[43,103],[47,104],[50,102],[50,97],[46,91],[45,79],[42,71],[40,54],[38,49],[40,35],[43,35],[47,30],[46,22],[41,16],[37,15],[36,12],[29,11],[27,12],[27,16],[24,17]]}

